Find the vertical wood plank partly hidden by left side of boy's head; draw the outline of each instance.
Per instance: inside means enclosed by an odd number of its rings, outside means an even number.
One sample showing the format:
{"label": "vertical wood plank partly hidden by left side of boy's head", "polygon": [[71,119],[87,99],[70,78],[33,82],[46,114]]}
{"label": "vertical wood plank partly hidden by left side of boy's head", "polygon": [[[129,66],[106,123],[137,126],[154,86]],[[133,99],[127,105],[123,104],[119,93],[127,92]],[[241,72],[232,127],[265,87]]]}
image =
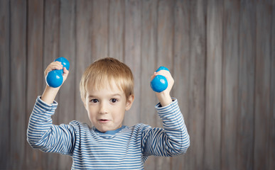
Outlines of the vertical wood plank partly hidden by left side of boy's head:
{"label": "vertical wood plank partly hidden by left side of boy's head", "polygon": [[80,97],[80,79],[92,57],[92,1],[76,1],[75,119],[90,124]]}

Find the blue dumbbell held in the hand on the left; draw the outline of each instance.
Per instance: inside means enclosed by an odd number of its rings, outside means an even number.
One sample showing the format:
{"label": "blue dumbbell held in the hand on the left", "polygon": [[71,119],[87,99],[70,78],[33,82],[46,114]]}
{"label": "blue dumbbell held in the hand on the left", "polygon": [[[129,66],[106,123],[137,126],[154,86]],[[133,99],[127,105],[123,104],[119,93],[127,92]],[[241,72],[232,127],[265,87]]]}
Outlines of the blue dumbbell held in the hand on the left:
{"label": "blue dumbbell held in the hand on the left", "polygon": [[[55,60],[55,62],[61,62],[63,67],[66,67],[66,69],[70,69],[70,62],[65,59],[64,57],[59,57],[58,59]],[[55,69],[53,71],[50,71],[46,77],[46,82],[48,86],[51,87],[59,87],[63,83],[63,69]]]}

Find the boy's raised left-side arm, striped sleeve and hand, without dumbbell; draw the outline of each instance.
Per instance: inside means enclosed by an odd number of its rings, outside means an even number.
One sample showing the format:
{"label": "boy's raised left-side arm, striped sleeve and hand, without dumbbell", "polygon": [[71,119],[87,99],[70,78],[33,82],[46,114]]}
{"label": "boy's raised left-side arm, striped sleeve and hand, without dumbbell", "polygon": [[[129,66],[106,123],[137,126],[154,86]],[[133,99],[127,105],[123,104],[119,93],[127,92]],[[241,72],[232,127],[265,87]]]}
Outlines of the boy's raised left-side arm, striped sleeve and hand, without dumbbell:
{"label": "boy's raised left-side arm, striped sleeve and hand, without dumbbell", "polygon": [[[61,62],[52,62],[45,69],[45,77],[53,69],[63,69],[63,82],[68,77],[68,70]],[[75,129],[72,125],[53,125],[50,118],[55,113],[58,103],[54,101],[60,87],[45,87],[42,96],[38,96],[28,123],[27,140],[31,147],[44,152],[71,154],[75,143]]]}

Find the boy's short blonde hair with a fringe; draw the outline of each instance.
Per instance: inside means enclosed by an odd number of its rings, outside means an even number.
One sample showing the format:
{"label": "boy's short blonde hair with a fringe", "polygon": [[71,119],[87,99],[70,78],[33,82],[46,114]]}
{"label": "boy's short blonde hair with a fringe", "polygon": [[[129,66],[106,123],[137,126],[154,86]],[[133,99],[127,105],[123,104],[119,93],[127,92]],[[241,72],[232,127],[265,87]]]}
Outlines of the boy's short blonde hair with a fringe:
{"label": "boy's short blonde hair with a fringe", "polygon": [[[124,91],[126,99],[134,95],[134,77],[131,69],[117,59],[107,57],[95,61],[85,70],[80,80],[80,96],[83,102],[87,97],[87,84],[95,90],[102,89],[111,82]],[[112,86],[111,86],[112,88]]]}

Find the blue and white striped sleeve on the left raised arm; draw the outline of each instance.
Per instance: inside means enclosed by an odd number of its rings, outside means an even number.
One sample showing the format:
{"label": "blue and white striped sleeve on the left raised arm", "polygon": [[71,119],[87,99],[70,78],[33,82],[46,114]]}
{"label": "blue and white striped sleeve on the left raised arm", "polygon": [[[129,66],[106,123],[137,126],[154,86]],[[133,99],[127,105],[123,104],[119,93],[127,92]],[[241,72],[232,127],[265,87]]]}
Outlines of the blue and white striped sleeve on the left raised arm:
{"label": "blue and white striped sleeve on the left raised arm", "polygon": [[53,125],[50,116],[57,106],[57,102],[48,105],[38,96],[28,123],[27,140],[31,147],[43,152],[72,155],[75,128],[72,125]]}

